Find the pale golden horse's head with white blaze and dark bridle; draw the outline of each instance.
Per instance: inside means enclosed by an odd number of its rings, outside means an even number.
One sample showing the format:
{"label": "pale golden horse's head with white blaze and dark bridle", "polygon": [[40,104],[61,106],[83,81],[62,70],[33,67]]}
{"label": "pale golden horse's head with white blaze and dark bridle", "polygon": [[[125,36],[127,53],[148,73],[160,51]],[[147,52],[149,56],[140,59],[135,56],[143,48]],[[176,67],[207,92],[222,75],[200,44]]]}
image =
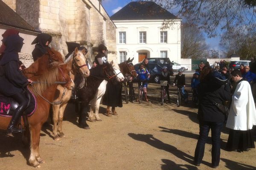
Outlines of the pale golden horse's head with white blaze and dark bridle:
{"label": "pale golden horse's head with white blaze and dark bridle", "polygon": [[75,48],[75,51],[67,58],[66,63],[72,60],[72,69],[79,70],[81,74],[85,77],[90,76],[90,71],[88,69],[86,58],[84,57],[85,49],[79,51]]}

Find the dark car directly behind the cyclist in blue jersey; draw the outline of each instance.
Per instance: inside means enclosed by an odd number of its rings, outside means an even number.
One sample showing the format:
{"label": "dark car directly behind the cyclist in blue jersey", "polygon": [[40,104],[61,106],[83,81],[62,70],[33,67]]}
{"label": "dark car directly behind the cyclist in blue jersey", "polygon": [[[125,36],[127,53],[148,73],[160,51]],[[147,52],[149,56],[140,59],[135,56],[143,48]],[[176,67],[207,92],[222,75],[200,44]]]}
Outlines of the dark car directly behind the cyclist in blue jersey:
{"label": "dark car directly behind the cyclist in blue jersey", "polygon": [[[138,71],[140,69],[140,63],[135,64],[134,68],[136,71]],[[162,72],[162,67],[158,64],[148,62],[148,71],[150,73],[150,78],[148,81],[157,83],[159,81],[159,77]],[[134,82],[137,82],[137,81],[138,81],[138,77],[137,79],[134,80]]]}

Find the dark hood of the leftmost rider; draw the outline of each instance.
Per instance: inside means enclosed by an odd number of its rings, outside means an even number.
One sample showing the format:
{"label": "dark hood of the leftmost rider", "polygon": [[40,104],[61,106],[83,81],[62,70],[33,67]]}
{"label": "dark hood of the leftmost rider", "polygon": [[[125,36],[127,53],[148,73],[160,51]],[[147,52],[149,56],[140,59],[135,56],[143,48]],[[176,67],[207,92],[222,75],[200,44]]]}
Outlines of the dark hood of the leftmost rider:
{"label": "dark hood of the leftmost rider", "polygon": [[19,35],[11,35],[4,40],[3,43],[5,43],[6,49],[3,58],[0,60],[0,65],[6,64],[11,60],[19,61],[18,53],[24,44],[23,40]]}

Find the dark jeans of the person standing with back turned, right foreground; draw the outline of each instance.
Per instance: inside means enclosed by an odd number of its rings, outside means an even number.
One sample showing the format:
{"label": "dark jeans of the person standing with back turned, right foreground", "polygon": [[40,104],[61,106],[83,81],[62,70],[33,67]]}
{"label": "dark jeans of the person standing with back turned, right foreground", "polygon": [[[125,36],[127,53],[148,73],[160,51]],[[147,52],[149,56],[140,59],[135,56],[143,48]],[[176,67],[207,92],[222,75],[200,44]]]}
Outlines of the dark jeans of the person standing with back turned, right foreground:
{"label": "dark jeans of the person standing with back turned, right foreground", "polygon": [[212,166],[218,166],[221,155],[221,129],[223,122],[199,121],[199,139],[195,148],[195,164],[200,164],[204,157],[204,146],[207,142],[209,130],[212,130]]}

